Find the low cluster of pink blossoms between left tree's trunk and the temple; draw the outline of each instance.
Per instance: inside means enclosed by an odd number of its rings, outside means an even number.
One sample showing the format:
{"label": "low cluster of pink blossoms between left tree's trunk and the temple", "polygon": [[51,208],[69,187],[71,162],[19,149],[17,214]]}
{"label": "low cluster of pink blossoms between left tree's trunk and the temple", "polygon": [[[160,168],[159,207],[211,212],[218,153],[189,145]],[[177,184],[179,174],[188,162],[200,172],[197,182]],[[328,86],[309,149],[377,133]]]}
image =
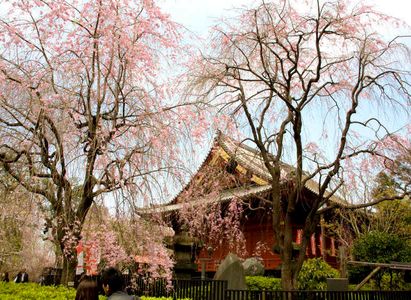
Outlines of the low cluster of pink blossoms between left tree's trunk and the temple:
{"label": "low cluster of pink blossoms between left tree's trunk and the temple", "polygon": [[159,216],[111,216],[104,206],[90,209],[81,234],[86,272],[96,274],[106,267],[128,269],[132,278],[166,279],[171,284],[174,261],[167,239],[174,231]]}

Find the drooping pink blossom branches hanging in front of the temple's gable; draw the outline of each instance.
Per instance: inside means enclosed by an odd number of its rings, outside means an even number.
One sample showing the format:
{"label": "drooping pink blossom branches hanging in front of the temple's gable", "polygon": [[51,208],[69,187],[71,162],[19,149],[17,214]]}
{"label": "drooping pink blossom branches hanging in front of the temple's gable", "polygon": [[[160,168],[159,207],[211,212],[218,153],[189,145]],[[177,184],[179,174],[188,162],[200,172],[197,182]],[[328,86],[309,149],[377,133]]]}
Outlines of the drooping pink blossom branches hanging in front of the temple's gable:
{"label": "drooping pink blossom branches hanging in front of the temple's gable", "polygon": [[246,257],[245,238],[241,231],[243,201],[239,198],[228,203],[213,201],[220,198],[224,188],[242,183],[218,163],[203,166],[191,183],[178,195],[182,204],[177,217],[180,226],[205,249],[211,251],[224,247],[239,257]]}

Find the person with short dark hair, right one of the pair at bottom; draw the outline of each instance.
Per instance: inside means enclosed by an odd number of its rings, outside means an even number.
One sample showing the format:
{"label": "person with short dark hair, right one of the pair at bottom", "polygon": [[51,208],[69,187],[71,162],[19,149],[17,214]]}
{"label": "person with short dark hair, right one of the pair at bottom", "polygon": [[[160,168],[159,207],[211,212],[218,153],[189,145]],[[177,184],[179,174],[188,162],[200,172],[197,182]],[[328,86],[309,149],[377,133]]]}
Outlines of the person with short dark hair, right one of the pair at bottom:
{"label": "person with short dark hair, right one of the pair at bottom", "polygon": [[116,268],[108,268],[101,274],[101,283],[108,296],[107,300],[138,300],[138,297],[127,295],[124,291],[123,274]]}

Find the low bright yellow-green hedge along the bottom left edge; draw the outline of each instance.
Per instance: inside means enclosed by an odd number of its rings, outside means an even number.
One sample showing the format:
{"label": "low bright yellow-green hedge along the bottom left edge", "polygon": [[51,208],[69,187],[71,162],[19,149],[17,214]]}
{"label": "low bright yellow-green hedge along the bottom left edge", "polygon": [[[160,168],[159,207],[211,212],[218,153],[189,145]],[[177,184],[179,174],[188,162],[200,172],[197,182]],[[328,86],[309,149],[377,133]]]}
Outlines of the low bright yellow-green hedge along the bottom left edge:
{"label": "low bright yellow-green hedge along the bottom left edge", "polygon": [[[76,290],[63,286],[40,286],[37,283],[0,282],[1,300],[74,300]],[[99,296],[99,300],[107,297]],[[172,298],[141,297],[141,300],[172,300]],[[189,300],[189,299],[183,299]]]}

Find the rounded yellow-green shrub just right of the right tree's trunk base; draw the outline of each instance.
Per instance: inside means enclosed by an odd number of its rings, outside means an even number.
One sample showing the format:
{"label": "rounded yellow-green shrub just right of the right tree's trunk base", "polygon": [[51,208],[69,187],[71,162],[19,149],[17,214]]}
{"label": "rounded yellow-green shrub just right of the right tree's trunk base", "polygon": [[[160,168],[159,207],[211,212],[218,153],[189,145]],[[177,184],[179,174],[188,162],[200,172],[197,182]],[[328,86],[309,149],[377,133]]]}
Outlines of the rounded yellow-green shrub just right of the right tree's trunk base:
{"label": "rounded yellow-green shrub just right of the right tree's trunk base", "polygon": [[308,259],[304,262],[298,275],[300,290],[325,290],[327,278],[336,278],[339,273],[322,258]]}

